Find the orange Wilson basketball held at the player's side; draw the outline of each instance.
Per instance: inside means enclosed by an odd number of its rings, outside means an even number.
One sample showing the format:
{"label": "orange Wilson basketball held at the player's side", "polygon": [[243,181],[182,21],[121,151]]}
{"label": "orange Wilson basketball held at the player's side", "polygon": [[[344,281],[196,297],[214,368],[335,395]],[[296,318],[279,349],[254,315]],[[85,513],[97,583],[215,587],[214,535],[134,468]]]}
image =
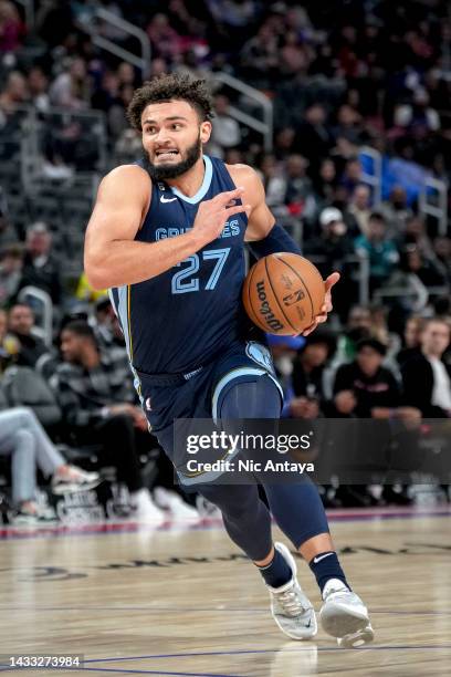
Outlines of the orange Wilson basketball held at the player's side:
{"label": "orange Wilson basketball held at the player's side", "polygon": [[271,334],[301,334],[319,313],[325,287],[318,269],[298,254],[260,259],[249,271],[242,299],[256,326]]}

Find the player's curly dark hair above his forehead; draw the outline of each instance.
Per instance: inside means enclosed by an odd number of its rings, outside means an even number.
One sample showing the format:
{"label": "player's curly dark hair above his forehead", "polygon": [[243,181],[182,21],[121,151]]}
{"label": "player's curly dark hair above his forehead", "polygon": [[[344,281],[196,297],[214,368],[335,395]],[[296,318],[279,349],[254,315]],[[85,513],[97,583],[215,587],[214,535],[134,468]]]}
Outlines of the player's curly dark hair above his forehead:
{"label": "player's curly dark hair above his forehead", "polygon": [[147,81],[136,90],[127,108],[127,119],[135,129],[143,131],[143,111],[153,103],[165,101],[186,101],[199,114],[202,122],[213,117],[213,102],[206,80],[195,80],[190,75],[170,73]]}

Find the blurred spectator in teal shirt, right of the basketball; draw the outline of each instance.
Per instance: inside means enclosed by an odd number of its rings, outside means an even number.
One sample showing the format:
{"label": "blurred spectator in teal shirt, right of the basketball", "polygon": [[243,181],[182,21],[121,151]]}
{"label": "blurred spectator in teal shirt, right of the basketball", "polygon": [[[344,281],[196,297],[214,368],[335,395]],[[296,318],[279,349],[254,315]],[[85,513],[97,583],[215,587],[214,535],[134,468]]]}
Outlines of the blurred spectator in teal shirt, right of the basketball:
{"label": "blurred spectator in teal shirt, right of the basketball", "polygon": [[378,289],[388,280],[399,261],[395,243],[387,239],[386,220],[380,213],[371,212],[368,219],[368,235],[356,238],[355,249],[357,253],[368,257],[370,291]]}

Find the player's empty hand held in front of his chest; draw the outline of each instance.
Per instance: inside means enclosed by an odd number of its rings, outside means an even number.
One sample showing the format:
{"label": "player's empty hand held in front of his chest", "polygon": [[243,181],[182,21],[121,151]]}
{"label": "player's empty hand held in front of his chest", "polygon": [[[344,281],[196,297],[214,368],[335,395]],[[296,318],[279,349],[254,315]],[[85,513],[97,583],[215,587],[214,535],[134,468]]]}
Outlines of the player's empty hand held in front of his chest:
{"label": "player's empty hand held in front of his chest", "polygon": [[219,192],[211,200],[200,202],[192,229],[203,247],[212,242],[221,235],[226,221],[235,213],[250,212],[250,205],[238,205],[244,192],[244,188],[235,188],[226,192]]}

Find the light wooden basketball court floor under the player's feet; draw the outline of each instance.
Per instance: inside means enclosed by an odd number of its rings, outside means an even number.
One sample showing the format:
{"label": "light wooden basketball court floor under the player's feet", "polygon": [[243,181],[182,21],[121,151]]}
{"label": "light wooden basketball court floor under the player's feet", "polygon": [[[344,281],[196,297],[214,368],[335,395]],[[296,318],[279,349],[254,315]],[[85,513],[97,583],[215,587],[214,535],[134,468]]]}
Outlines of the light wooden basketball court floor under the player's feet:
{"label": "light wooden basketball court floor under the player's feet", "polygon": [[[451,675],[451,510],[338,511],[331,521],[348,579],[371,611],[369,647],[340,649],[321,629],[313,642],[282,635],[258,572],[218,522],[4,529],[0,671],[13,671],[4,655],[82,654],[71,671],[22,671]],[[298,563],[318,608],[316,584]]]}

